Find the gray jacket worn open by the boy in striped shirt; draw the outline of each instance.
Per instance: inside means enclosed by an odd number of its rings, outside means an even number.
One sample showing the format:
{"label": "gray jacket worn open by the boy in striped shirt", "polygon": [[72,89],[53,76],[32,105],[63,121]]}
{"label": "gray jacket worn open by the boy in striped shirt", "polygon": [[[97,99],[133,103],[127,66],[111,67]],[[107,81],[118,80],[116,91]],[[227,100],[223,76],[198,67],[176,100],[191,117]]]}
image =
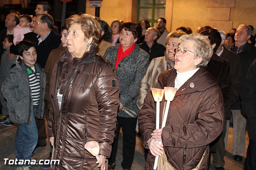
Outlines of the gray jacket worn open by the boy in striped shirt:
{"label": "gray jacket worn open by the boy in striped shirt", "polygon": [[[40,100],[35,117],[43,119],[46,76],[38,64],[35,64],[35,67],[38,68],[40,74]],[[11,69],[2,85],[2,93],[7,101],[10,121],[30,125],[33,118],[33,99],[27,67],[23,61],[16,63]]]}

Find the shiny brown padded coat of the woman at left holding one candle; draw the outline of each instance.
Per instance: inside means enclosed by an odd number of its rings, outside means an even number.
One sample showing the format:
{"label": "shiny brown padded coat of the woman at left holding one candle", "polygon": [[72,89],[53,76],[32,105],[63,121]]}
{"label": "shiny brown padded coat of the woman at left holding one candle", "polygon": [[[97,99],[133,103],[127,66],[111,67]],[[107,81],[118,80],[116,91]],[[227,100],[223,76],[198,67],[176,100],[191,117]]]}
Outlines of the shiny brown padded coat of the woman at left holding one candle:
{"label": "shiny brown padded coat of the woman at left holding one candle", "polygon": [[60,111],[56,94],[65,70],[62,58],[71,57],[67,50],[52,71],[48,136],[54,136],[53,159],[60,160],[54,170],[98,170],[96,158],[84,149],[91,140],[99,143],[100,155],[110,156],[119,105],[118,78],[113,65],[96,55],[96,47],[91,50],[67,80]]}

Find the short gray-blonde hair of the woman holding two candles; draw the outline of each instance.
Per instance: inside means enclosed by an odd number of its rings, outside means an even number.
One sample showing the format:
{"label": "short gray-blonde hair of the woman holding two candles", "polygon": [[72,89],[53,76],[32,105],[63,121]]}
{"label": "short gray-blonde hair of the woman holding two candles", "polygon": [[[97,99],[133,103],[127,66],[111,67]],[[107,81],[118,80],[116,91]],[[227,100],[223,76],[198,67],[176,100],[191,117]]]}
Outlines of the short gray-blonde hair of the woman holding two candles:
{"label": "short gray-blonde hair of the woman holding two candles", "polygon": [[200,34],[189,34],[189,35],[183,35],[179,39],[179,44],[184,41],[191,41],[194,44],[194,59],[197,57],[202,57],[201,63],[196,65],[196,67],[202,67],[206,66],[208,62],[210,61],[210,58],[212,56],[212,45],[210,44],[210,41],[206,36],[202,36]]}

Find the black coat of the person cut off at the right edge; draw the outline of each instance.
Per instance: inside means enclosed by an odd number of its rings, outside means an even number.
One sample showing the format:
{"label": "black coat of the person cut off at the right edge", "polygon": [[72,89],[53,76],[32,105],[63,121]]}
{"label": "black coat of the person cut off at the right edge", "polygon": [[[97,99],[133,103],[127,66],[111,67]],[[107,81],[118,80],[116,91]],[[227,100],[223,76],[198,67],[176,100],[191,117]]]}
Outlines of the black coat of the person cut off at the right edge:
{"label": "black coat of the person cut off at the right edge", "polygon": [[241,90],[242,111],[246,114],[246,129],[250,140],[256,141],[256,60],[248,69]]}

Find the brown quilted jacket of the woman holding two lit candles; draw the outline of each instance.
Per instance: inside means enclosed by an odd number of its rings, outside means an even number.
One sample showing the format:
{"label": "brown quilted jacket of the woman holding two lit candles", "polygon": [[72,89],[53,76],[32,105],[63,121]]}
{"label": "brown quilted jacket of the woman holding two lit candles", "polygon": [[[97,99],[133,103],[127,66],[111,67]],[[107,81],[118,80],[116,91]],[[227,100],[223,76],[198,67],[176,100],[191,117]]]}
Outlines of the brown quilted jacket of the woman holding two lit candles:
{"label": "brown quilted jacket of the woman holding two lit candles", "polygon": [[[164,71],[154,87],[174,87],[175,78],[176,70]],[[194,83],[194,87],[190,83]],[[164,101],[165,99],[160,102],[160,117]],[[155,115],[156,103],[150,92],[139,115],[139,128],[146,148],[147,141],[156,128]],[[223,120],[222,93],[214,77],[205,67],[201,67],[178,89],[169,108],[166,127],[162,131],[164,152],[172,166],[177,170],[191,170],[196,167],[206,150],[200,170],[207,170],[208,144],[221,133]],[[145,170],[153,169],[154,159],[149,152]]]}

